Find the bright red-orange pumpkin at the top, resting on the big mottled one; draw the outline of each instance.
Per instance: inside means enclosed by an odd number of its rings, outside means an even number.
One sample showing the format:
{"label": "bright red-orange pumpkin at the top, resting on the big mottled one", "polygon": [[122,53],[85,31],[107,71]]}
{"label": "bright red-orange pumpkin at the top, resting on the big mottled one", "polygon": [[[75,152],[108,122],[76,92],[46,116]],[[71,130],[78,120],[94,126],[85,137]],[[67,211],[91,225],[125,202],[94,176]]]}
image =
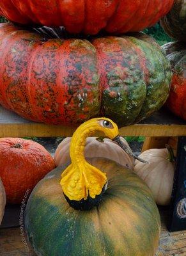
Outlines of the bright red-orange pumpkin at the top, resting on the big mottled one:
{"label": "bright red-orange pumpkin at the top, resting on the big mottled one", "polygon": [[0,12],[20,24],[65,26],[95,35],[141,31],[166,15],[173,0],[1,0]]}

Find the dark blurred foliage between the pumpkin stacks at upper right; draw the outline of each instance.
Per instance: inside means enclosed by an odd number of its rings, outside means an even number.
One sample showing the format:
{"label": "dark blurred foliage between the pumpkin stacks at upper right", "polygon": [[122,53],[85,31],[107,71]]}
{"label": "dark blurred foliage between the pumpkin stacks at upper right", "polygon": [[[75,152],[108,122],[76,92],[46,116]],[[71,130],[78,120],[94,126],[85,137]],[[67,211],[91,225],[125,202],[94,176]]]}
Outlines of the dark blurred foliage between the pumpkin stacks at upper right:
{"label": "dark blurred foliage between the pumpkin stacks at upper right", "polygon": [[153,38],[155,38],[160,45],[164,45],[167,42],[173,41],[173,39],[170,38],[164,32],[164,29],[162,29],[162,27],[160,26],[160,23],[155,24],[155,26],[151,28],[144,29],[143,32],[146,33],[147,35],[153,36]]}

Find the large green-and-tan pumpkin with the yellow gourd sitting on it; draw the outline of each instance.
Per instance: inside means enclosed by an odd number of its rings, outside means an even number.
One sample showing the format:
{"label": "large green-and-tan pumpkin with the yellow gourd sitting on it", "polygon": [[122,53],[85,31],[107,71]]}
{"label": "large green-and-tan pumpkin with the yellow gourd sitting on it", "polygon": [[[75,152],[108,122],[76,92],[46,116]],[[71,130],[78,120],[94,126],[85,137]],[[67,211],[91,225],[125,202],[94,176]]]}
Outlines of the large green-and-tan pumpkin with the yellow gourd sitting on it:
{"label": "large green-and-tan pumpkin with the yellow gourd sitting on it", "polygon": [[150,189],[136,174],[105,159],[91,164],[107,173],[108,188],[91,211],[68,205],[59,184],[64,167],[41,180],[25,212],[27,236],[42,256],[153,256],[160,217]]}

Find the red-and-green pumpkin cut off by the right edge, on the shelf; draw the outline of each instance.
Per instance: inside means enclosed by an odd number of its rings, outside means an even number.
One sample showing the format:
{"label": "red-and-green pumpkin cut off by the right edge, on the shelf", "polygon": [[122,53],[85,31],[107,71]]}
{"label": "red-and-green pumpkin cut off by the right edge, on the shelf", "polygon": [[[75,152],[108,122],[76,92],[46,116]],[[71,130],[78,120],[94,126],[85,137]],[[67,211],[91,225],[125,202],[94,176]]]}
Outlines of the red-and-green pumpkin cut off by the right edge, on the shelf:
{"label": "red-and-green pumpkin cut off by the right edge, on the shelf", "polygon": [[184,43],[175,42],[166,44],[163,48],[167,52],[173,70],[167,107],[186,120],[186,47]]}

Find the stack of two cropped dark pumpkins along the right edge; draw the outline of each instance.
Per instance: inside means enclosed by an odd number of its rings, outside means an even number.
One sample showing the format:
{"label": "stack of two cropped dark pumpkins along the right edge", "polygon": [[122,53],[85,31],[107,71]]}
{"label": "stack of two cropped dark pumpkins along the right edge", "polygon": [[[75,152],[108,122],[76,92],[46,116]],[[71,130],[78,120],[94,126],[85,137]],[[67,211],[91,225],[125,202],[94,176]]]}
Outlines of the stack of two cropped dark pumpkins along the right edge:
{"label": "stack of two cropped dark pumpkins along the right edge", "polygon": [[177,42],[163,46],[171,61],[173,80],[167,107],[186,120],[186,1],[174,0],[174,6],[162,19],[162,27]]}

